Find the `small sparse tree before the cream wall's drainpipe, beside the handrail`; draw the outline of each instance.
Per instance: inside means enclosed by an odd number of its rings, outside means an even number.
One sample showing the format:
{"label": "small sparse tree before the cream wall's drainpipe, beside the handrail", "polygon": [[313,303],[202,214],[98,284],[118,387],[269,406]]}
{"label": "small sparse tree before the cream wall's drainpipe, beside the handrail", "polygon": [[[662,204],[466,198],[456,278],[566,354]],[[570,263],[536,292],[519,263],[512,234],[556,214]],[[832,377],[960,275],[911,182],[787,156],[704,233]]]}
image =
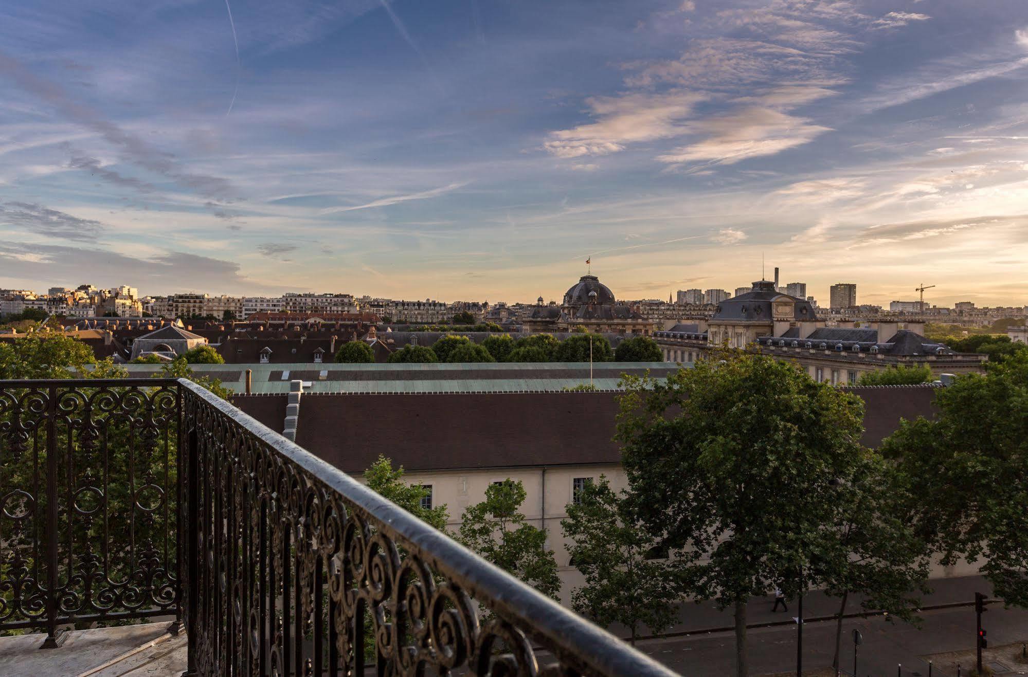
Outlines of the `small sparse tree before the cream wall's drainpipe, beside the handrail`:
{"label": "small sparse tree before the cream wall's drainpipe, beside the handrail", "polygon": [[485,500],[464,512],[453,537],[501,569],[510,572],[544,595],[560,592],[557,562],[546,549],[546,530],[531,526],[518,512],[524,486],[505,480],[485,489]]}

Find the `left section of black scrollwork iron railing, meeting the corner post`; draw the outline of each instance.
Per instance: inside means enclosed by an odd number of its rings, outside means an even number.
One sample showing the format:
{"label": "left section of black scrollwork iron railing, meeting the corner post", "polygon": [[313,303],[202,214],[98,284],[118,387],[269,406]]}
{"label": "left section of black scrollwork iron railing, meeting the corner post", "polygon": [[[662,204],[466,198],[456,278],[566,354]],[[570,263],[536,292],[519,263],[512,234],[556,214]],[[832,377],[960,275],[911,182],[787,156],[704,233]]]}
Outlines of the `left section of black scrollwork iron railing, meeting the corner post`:
{"label": "left section of black scrollwork iron railing, meeting the corner post", "polygon": [[0,630],[178,614],[177,381],[0,381]]}

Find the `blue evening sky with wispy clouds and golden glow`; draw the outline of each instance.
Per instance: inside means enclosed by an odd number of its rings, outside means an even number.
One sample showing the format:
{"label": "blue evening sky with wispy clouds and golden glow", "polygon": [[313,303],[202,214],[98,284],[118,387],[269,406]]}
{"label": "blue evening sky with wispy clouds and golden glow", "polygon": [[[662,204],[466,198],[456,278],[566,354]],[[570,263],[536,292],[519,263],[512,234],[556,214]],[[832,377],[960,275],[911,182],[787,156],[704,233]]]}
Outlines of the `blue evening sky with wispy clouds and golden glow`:
{"label": "blue evening sky with wispy clouds and golden glow", "polygon": [[1028,304],[1025,0],[8,0],[0,288]]}

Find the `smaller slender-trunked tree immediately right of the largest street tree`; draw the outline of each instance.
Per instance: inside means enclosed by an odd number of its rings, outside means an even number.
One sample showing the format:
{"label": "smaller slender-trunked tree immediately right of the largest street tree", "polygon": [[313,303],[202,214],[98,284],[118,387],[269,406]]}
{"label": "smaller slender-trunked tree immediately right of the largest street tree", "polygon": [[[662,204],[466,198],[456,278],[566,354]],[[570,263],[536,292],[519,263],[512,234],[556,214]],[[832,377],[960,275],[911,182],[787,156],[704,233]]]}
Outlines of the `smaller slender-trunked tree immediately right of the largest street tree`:
{"label": "smaller slender-trunked tree immediately right of the largest street tree", "polygon": [[927,541],[911,522],[910,494],[895,468],[878,454],[867,454],[849,477],[836,484],[837,504],[832,525],[835,538],[829,550],[812,558],[811,577],[829,595],[840,599],[836,614],[835,654],[837,671],[842,642],[842,623],[851,595],[860,596],[866,611],[886,611],[889,619],[917,622],[924,584],[930,573]]}

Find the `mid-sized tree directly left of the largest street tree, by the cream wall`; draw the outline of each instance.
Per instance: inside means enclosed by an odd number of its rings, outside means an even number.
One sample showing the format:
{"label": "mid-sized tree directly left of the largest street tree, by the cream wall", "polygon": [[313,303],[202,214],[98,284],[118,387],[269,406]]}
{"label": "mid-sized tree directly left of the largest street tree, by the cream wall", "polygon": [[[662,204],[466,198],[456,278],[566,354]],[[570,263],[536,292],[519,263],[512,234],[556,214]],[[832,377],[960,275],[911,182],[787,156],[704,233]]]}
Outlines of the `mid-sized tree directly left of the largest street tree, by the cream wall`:
{"label": "mid-sized tree directly left of the largest street tree, by the cream wall", "polygon": [[659,633],[674,623],[676,567],[659,539],[639,523],[627,493],[615,494],[607,478],[587,484],[580,502],[568,503],[560,521],[571,540],[572,564],[585,586],[572,593],[572,607],[607,627],[620,623],[635,645],[638,626]]}

